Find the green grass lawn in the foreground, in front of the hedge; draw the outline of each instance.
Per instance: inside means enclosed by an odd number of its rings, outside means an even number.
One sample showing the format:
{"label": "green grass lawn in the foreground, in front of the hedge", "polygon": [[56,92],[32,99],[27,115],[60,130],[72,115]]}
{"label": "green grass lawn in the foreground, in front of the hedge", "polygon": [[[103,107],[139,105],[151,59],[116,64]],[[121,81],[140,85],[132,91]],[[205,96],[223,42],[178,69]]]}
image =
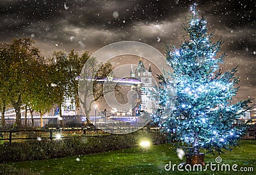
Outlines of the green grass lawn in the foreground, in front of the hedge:
{"label": "green grass lawn in the foreground, in front of the hedge", "polygon": [[[63,150],[65,151],[65,150]],[[205,164],[216,164],[218,155],[205,155]],[[230,172],[207,171],[180,172],[165,171],[164,165],[172,162],[180,164],[172,144],[153,145],[146,151],[142,148],[122,149],[97,153],[93,155],[69,156],[60,159],[15,162],[13,169],[40,174],[256,174],[256,141],[241,141],[241,145],[231,152],[221,155],[222,164],[230,165]],[[231,166],[237,164],[237,171],[232,171]],[[241,172],[241,167],[253,167],[253,172]],[[218,168],[216,166],[216,168]]]}

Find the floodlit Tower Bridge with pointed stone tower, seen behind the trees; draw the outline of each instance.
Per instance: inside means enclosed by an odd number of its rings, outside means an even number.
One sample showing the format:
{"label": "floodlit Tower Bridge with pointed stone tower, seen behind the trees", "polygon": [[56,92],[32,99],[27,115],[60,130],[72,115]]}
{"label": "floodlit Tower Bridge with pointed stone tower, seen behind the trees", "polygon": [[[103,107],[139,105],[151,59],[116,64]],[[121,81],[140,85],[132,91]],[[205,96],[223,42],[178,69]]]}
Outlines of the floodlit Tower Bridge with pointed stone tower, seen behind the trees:
{"label": "floodlit Tower Bridge with pointed stone tower, seen behind the trees", "polygon": [[[131,87],[131,90],[132,90],[131,97],[133,102],[131,106],[132,110],[129,112],[127,111],[120,112],[120,110],[122,109],[118,109],[118,112],[116,112],[115,114],[113,113],[109,115],[109,117],[111,118],[120,116],[124,118],[124,120],[129,119],[129,121],[132,121],[132,120],[135,121],[134,118],[140,116],[141,110],[147,111],[148,113],[152,113],[152,109],[155,107],[149,95],[149,91],[152,90],[152,69],[150,65],[148,69],[145,68],[145,66],[143,65],[143,61],[141,59],[138,63],[138,66],[134,70],[131,67],[130,77],[118,78],[118,77],[108,76],[104,79],[97,79],[97,78],[92,79],[88,77],[87,80],[97,81],[102,84],[109,83],[109,84],[116,84],[120,86]],[[49,121],[52,121],[52,119],[54,119],[54,121],[57,121],[59,116],[58,109],[53,109],[53,110],[54,111],[52,112],[44,114],[43,116],[45,121],[44,123],[49,123]],[[61,111],[62,111],[61,115],[63,116],[63,119],[73,118],[72,116],[74,117],[76,116],[77,118],[77,116],[80,116],[79,119],[83,120],[83,114],[76,109],[74,100],[67,99],[63,104],[63,106],[61,107]],[[24,120],[24,113],[25,113],[24,106],[22,106],[21,113],[22,113],[22,120]],[[6,122],[12,120],[12,123],[14,123],[15,109],[7,110],[4,116],[5,116]],[[34,116],[33,119],[38,119],[38,121],[40,120],[40,115],[34,114],[33,116]],[[27,118],[31,120],[31,114],[29,112],[28,112]],[[93,122],[93,119],[95,119],[95,116],[90,116],[90,118],[92,119],[92,122]],[[100,120],[100,116],[97,115],[97,121],[98,120]]]}

